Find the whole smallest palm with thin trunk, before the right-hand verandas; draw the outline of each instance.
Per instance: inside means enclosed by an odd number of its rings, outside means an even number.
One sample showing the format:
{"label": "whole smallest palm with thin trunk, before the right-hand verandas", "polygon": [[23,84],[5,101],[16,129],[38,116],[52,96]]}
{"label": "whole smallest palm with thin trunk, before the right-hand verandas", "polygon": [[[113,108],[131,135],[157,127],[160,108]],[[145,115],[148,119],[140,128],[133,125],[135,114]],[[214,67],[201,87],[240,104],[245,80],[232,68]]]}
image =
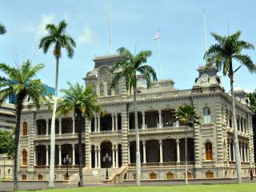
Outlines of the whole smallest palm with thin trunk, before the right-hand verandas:
{"label": "whole smallest palm with thin trunk, before the right-hand verandas", "polygon": [[[183,122],[186,128],[193,128],[194,124],[200,124],[198,122],[199,117],[196,114],[196,111],[194,110],[194,106],[189,105],[183,105],[179,106],[177,110],[174,112],[174,122]],[[186,131],[185,130],[185,182],[186,185],[188,184],[187,180],[187,137],[186,137]]]}

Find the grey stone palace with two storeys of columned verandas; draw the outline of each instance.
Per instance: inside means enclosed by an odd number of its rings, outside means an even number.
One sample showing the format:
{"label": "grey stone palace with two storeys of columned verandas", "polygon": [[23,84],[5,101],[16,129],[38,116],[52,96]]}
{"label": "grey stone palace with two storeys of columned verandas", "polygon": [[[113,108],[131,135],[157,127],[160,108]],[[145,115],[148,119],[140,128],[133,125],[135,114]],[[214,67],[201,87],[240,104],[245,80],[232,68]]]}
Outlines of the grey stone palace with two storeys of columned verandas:
{"label": "grey stone palace with two storeys of columned verandas", "polygon": [[[109,154],[109,182],[135,179],[135,133],[133,93],[122,79],[111,89],[110,67],[119,55],[94,58],[94,69],[83,78],[92,84],[104,116],[85,119],[83,130],[83,174],[85,182],[102,182],[106,175],[103,157]],[[185,178],[185,136],[188,138],[188,178],[235,178],[234,122],[231,97],[222,87],[214,67],[198,69],[198,78],[189,90],[178,90],[174,81],[159,80],[146,89],[138,75],[138,128],[142,180]],[[244,91],[236,91],[236,115],[242,177],[254,168],[252,115]],[[195,107],[201,125],[193,129],[172,122],[174,110],[182,104]],[[52,111],[36,110],[28,104],[22,111],[19,146],[19,177],[47,180],[50,163],[50,121]],[[78,182],[78,134],[72,114],[58,117],[55,124],[55,178],[66,179],[63,158],[71,157],[68,174]]]}

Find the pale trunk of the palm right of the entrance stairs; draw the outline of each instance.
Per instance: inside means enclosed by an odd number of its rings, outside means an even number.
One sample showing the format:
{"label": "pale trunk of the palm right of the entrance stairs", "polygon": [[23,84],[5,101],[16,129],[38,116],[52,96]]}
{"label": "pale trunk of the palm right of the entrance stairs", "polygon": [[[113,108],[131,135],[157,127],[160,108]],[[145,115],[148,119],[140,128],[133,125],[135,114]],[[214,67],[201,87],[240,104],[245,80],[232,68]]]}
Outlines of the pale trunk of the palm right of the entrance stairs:
{"label": "pale trunk of the palm right of the entrance stairs", "polygon": [[141,185],[141,154],[139,149],[139,134],[138,134],[138,112],[136,87],[134,87],[134,120],[135,120],[135,140],[136,140],[136,186]]}

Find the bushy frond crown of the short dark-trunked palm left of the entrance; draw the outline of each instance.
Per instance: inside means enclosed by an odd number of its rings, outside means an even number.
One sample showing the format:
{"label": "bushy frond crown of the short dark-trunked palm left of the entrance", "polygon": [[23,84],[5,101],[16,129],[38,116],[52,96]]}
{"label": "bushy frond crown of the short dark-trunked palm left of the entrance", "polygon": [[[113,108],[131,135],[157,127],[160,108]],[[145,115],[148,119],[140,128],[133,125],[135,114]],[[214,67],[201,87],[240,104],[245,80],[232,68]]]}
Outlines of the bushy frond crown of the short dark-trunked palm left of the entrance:
{"label": "bushy frond crown of the short dark-trunked palm left of the entrance", "polygon": [[93,94],[92,86],[86,88],[78,83],[71,85],[67,82],[69,89],[61,90],[64,96],[58,101],[57,114],[82,114],[92,118],[94,112],[101,113],[102,107],[97,102],[97,95]]}

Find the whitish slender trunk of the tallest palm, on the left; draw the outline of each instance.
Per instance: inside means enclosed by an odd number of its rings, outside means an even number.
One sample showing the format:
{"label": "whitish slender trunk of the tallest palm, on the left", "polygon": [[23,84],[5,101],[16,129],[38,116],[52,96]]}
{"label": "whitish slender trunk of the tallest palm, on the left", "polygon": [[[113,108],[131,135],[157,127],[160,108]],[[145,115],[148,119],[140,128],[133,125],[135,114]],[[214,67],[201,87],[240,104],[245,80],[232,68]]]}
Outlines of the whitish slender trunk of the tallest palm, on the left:
{"label": "whitish slender trunk of the tallest palm, on the left", "polygon": [[[58,96],[58,60],[56,57],[56,74],[55,74],[55,95],[54,95],[54,110],[53,116],[51,118],[50,124],[50,173],[49,173],[49,181],[48,188],[54,188],[54,166],[55,166],[55,117],[56,117],[56,109],[57,109],[57,96]],[[59,127],[58,129],[62,129]]]}

